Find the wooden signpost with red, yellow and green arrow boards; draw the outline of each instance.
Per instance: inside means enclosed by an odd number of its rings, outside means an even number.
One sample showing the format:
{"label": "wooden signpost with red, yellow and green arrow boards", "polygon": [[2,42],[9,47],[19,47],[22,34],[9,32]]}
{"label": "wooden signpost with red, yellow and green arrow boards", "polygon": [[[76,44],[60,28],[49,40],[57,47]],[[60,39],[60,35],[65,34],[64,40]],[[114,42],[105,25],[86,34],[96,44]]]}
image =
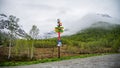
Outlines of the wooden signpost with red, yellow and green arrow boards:
{"label": "wooden signpost with red, yellow and green arrow boards", "polygon": [[60,22],[60,19],[57,19],[57,27],[55,27],[55,32],[58,33],[58,58],[60,58],[60,46],[62,45],[61,39],[60,39],[60,34],[63,33],[63,27],[62,23]]}

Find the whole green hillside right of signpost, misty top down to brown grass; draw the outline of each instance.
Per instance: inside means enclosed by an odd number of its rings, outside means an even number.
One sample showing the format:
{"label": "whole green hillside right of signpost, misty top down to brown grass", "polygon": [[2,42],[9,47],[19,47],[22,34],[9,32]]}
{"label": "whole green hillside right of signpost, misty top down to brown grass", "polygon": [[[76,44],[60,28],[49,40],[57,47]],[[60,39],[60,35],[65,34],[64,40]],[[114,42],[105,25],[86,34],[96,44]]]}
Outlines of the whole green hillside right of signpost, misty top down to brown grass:
{"label": "whole green hillside right of signpost, misty top down to brown grass", "polygon": [[120,48],[120,25],[107,22],[97,22],[89,28],[79,31],[71,36],[62,38],[63,44],[77,46],[92,51],[110,48],[117,52]]}

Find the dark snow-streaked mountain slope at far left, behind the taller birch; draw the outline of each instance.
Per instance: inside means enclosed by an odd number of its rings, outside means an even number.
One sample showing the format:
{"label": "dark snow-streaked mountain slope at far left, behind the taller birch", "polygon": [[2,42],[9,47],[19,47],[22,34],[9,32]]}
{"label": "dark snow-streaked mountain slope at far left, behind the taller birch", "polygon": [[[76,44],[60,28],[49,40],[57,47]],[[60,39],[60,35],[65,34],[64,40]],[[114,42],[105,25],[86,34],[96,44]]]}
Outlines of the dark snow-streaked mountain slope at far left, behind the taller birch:
{"label": "dark snow-streaked mountain slope at far left, behind the taller birch", "polygon": [[11,31],[13,31],[12,35],[16,38],[27,36],[27,33],[19,26],[18,21],[19,18],[13,15],[0,14],[0,41],[4,38],[3,36],[9,37]]}

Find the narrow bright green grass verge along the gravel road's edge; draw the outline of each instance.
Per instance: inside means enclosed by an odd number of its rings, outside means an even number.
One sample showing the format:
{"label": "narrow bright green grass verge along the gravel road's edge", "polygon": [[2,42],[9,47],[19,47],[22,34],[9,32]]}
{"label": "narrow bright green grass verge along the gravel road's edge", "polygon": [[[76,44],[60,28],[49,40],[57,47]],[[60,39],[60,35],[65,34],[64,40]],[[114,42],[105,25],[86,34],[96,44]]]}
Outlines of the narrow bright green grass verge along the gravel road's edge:
{"label": "narrow bright green grass verge along the gravel road's edge", "polygon": [[19,61],[19,62],[2,62],[0,63],[0,66],[19,66],[19,65],[31,65],[31,64],[38,64],[38,63],[45,63],[45,62],[54,62],[54,61],[61,61],[61,60],[68,60],[68,59],[75,59],[75,58],[87,58],[92,56],[102,56],[102,55],[108,55],[113,53],[102,53],[102,54],[83,54],[79,56],[67,56],[67,57],[61,57],[61,58],[47,58],[47,59],[39,59],[35,61]]}

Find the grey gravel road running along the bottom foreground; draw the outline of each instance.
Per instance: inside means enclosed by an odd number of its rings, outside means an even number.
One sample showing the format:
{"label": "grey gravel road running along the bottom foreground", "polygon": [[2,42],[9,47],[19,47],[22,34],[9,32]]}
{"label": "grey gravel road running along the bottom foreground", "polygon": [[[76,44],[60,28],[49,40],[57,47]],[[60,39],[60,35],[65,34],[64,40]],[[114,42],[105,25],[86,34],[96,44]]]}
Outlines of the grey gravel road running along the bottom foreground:
{"label": "grey gravel road running along the bottom foreground", "polygon": [[0,68],[120,68],[120,54]]}

